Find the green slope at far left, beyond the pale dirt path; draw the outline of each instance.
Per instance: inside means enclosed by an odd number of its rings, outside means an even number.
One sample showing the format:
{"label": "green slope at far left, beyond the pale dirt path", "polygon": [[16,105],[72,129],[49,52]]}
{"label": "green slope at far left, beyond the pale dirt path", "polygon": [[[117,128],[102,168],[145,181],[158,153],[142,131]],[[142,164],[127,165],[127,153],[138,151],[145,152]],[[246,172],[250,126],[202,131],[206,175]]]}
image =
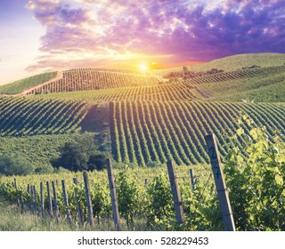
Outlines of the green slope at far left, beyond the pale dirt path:
{"label": "green slope at far left, beyond the pale dirt path", "polygon": [[28,88],[31,88],[37,84],[42,84],[52,79],[54,76],[56,76],[56,74],[57,72],[50,72],[20,79],[10,84],[0,85],[0,94],[17,94],[23,92]]}

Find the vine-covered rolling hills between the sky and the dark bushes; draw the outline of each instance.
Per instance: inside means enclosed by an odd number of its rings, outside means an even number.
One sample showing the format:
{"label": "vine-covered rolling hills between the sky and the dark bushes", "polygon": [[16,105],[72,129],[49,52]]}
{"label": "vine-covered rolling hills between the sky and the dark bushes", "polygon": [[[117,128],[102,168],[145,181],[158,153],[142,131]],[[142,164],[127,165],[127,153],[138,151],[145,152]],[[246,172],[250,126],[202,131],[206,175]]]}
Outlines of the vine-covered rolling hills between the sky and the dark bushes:
{"label": "vine-covered rolling hills between the sky and the dark bushes", "polygon": [[[0,97],[0,136],[16,143],[88,132],[101,136],[97,141],[104,141],[118,162],[207,163],[204,136],[216,133],[225,155],[244,114],[265,125],[270,140],[275,134],[284,139],[284,59],[284,54],[237,55],[199,65],[195,70],[201,73],[194,76],[164,80],[161,76],[169,70],[155,76],[77,68],[51,73],[37,83],[30,77],[21,80],[21,88],[10,84],[10,92],[24,96]],[[208,71],[212,68],[219,70]],[[248,133],[248,125],[243,128]],[[242,142],[236,141],[240,148]],[[21,153],[28,157],[27,150]]]}

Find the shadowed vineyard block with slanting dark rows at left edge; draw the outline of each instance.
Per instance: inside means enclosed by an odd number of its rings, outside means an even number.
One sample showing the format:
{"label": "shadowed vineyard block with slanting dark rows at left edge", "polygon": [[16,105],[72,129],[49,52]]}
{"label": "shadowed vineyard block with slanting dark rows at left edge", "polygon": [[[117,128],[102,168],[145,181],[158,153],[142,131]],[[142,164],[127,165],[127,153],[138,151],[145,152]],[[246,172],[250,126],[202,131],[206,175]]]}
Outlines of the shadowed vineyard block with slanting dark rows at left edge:
{"label": "shadowed vineyard block with slanting dark rows at left edge", "polygon": [[0,98],[0,136],[77,133],[89,106],[78,101]]}

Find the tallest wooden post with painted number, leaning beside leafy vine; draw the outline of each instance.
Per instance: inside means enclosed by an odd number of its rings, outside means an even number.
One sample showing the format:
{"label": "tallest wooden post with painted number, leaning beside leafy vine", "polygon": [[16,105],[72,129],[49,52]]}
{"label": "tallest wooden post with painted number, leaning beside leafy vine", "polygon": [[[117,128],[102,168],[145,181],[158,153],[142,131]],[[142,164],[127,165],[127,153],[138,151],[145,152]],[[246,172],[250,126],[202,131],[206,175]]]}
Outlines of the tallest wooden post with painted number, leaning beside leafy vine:
{"label": "tallest wooden post with painted number, leaning beside leafy vine", "polygon": [[221,167],[220,153],[217,148],[216,135],[214,133],[205,137],[208,147],[208,155],[212,165],[212,171],[215,178],[217,196],[222,210],[224,228],[226,231],[235,231],[232,207],[228,196],[228,189],[226,189],[224,174]]}

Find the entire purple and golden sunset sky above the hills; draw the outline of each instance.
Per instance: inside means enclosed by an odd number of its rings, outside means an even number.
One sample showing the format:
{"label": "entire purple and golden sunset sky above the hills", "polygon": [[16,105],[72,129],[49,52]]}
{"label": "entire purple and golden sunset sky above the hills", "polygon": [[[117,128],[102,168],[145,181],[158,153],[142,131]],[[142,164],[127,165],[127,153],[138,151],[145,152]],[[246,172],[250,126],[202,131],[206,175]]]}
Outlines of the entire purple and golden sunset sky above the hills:
{"label": "entire purple and golden sunset sky above the hills", "polygon": [[1,0],[0,84],[101,65],[285,52],[285,0]]}

